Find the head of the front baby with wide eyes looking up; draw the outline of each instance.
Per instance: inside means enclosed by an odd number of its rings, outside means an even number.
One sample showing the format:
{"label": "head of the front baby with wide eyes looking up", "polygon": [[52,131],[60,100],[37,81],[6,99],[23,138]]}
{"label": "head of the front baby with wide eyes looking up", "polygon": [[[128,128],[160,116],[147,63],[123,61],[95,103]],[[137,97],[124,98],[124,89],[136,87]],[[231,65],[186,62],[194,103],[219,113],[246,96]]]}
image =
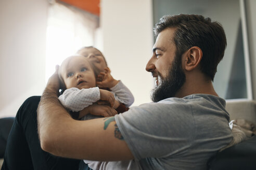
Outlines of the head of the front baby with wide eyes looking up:
{"label": "head of the front baby with wide eyes looking up", "polygon": [[72,55],[59,67],[62,92],[69,88],[88,89],[96,87],[98,69],[82,55]]}

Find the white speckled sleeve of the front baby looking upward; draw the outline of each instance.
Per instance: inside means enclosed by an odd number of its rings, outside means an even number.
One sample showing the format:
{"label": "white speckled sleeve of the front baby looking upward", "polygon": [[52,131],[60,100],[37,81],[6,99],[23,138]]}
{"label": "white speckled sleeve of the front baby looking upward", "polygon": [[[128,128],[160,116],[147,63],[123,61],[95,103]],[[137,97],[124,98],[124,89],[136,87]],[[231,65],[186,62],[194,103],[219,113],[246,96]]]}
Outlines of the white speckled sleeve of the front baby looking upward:
{"label": "white speckled sleeve of the front baby looking upward", "polygon": [[59,96],[60,103],[71,111],[80,111],[100,100],[99,88],[70,88]]}

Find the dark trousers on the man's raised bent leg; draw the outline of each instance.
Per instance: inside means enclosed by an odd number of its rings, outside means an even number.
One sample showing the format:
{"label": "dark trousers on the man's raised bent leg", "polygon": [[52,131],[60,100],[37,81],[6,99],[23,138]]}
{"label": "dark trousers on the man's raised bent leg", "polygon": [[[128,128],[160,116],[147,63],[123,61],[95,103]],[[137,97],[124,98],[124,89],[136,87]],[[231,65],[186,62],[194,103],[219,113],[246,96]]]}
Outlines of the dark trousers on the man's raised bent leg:
{"label": "dark trousers on the man's raised bent leg", "polygon": [[2,170],[79,169],[80,160],[56,157],[41,149],[36,113],[39,102],[40,96],[29,97],[18,110],[8,137]]}

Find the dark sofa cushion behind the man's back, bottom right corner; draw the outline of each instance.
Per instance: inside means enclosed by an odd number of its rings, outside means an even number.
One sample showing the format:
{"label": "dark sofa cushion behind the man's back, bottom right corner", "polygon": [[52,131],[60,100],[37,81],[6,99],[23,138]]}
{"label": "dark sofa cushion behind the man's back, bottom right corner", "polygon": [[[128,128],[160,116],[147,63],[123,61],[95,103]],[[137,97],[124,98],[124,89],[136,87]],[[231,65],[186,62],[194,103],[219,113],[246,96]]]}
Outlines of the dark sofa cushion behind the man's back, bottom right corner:
{"label": "dark sofa cushion behind the man's back, bottom right corner", "polygon": [[208,169],[256,169],[256,136],[217,153],[208,161]]}

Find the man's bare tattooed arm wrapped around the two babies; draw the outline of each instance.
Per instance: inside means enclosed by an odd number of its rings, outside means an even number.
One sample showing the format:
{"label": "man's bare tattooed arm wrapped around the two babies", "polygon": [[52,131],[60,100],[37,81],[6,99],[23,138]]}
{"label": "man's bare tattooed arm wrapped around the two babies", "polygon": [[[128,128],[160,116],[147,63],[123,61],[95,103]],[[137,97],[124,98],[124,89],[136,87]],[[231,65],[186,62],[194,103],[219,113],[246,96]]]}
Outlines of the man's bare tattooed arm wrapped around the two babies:
{"label": "man's bare tattooed arm wrapped around the two babies", "polygon": [[77,121],[58,100],[58,75],[50,77],[37,109],[43,150],[61,157],[96,161],[133,159],[113,117]]}

